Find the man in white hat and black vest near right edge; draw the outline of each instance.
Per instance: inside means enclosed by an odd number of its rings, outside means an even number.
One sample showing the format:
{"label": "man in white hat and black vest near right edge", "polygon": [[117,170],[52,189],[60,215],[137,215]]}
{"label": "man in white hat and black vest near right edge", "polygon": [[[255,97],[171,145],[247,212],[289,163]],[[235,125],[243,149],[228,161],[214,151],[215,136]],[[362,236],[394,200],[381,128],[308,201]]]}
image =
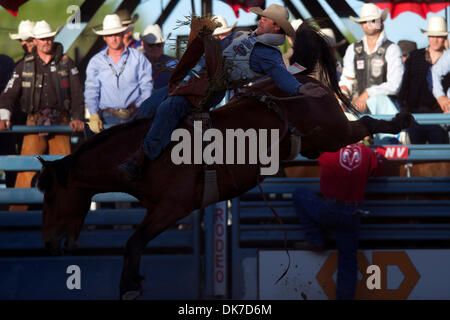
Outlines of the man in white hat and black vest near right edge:
{"label": "man in white hat and black vest near right edge", "polygon": [[[422,30],[428,36],[428,47],[413,51],[405,63],[399,101],[402,109],[411,113],[441,113],[427,78],[430,69],[445,51],[447,24],[441,17],[428,20],[428,30]],[[408,129],[413,144],[449,143],[448,133],[440,125],[413,125]]]}

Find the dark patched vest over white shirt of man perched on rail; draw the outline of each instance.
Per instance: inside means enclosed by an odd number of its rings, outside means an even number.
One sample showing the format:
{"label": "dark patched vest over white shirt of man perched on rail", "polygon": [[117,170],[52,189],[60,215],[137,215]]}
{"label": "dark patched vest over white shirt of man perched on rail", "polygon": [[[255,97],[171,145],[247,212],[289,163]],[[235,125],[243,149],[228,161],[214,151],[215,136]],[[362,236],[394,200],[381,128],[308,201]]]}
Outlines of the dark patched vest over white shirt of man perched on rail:
{"label": "dark patched vest over white shirt of man perched on rail", "polygon": [[355,74],[358,95],[373,85],[386,82],[386,50],[392,41],[386,40],[377,51],[368,55],[364,51],[363,41],[355,43]]}

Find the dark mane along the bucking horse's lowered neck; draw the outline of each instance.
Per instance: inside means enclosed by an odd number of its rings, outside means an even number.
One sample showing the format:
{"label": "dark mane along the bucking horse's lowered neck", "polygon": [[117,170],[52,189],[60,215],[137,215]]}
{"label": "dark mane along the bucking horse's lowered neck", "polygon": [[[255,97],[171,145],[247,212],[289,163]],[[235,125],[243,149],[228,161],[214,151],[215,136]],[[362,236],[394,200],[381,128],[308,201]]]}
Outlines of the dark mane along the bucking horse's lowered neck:
{"label": "dark mane along the bucking horse's lowered neck", "polygon": [[38,189],[44,192],[45,190],[48,190],[51,187],[52,180],[50,178],[51,176],[49,168],[55,170],[58,183],[61,184],[62,186],[67,186],[67,178],[69,176],[70,171],[76,167],[77,160],[85,151],[93,149],[103,144],[111,137],[119,133],[123,133],[124,130],[129,130],[141,126],[142,124],[149,123],[149,121],[150,121],[149,118],[141,118],[131,122],[115,125],[107,130],[104,130],[98,134],[89,137],[85,142],[80,144],[71,154],[65,156],[62,159],[58,159],[55,161],[41,160],[41,162],[43,163],[43,168],[39,173],[37,181]]}

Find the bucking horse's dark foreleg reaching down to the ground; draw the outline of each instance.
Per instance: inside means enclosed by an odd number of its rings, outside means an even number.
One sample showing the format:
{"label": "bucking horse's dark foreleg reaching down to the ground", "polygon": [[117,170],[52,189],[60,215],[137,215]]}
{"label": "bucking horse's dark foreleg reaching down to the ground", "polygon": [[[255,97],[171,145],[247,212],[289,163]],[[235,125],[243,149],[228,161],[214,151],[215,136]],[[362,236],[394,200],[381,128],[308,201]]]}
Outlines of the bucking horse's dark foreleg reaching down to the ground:
{"label": "bucking horse's dark foreleg reaching down to the ground", "polygon": [[187,210],[173,201],[162,201],[153,210],[148,210],[144,221],[128,239],[125,246],[122,277],[120,280],[120,298],[133,300],[143,292],[144,278],[139,274],[141,256],[148,242],[173,225],[177,220],[189,214]]}

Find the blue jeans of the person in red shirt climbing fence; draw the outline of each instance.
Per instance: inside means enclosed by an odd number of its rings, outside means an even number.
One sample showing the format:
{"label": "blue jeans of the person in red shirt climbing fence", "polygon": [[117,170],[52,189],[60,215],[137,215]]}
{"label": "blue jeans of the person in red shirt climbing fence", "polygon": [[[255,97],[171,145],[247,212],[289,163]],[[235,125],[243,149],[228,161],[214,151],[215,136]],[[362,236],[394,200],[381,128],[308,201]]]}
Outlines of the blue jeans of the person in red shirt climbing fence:
{"label": "blue jeans of the person in red shirt climbing fence", "polygon": [[320,246],[324,244],[327,233],[336,235],[338,250],[336,300],[354,299],[358,275],[359,235],[359,216],[354,215],[356,208],[328,203],[306,189],[296,189],[293,200],[309,243]]}

